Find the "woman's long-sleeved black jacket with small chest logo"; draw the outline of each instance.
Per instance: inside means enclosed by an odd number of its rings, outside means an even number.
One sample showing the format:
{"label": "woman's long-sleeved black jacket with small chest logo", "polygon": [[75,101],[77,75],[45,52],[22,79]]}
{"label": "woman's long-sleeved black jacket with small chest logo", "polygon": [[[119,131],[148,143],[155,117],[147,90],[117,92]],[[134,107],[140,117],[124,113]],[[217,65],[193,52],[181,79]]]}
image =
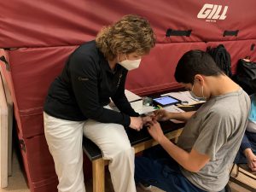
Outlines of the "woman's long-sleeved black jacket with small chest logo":
{"label": "woman's long-sleeved black jacket with small chest logo", "polygon": [[[83,44],[69,56],[61,75],[50,85],[44,112],[59,119],[95,119],[128,126],[130,116],[139,114],[125,96],[126,75],[127,70],[119,64],[111,70],[95,41]],[[103,108],[109,97],[120,113]]]}

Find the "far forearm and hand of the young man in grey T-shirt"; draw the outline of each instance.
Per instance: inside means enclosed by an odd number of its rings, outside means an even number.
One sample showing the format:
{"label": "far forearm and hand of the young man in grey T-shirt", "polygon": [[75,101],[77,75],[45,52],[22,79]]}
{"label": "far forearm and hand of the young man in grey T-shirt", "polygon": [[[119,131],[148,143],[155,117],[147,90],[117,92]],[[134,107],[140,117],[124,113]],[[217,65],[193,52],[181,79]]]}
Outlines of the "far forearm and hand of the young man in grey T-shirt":
{"label": "far forearm and hand of the young man in grey T-shirt", "polygon": [[171,113],[171,112],[167,112],[166,110],[163,110],[163,109],[154,111],[155,119],[159,120],[159,121],[176,119],[176,120],[187,122],[192,117],[192,115],[194,113],[195,113],[195,111],[183,112],[183,113]]}

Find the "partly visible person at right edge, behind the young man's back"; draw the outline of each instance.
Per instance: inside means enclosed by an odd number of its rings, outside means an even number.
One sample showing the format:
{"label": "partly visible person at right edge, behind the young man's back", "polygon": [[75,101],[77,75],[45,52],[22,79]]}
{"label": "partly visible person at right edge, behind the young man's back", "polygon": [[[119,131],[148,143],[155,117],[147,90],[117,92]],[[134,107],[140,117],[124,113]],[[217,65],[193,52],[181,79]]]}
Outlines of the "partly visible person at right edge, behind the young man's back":
{"label": "partly visible person at right edge, behind the young man's back", "polygon": [[[253,82],[256,90],[256,79]],[[247,130],[242,138],[241,147],[236,154],[236,159],[234,163],[245,164],[252,171],[256,171],[256,93],[251,97],[251,113],[249,116]]]}

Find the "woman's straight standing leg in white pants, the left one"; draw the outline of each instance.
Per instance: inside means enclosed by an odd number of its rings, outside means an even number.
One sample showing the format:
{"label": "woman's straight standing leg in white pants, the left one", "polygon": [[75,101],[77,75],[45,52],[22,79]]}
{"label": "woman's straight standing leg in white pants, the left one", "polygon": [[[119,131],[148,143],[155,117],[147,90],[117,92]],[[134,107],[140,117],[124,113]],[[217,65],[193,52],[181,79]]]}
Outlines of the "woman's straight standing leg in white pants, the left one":
{"label": "woman's straight standing leg in white pants, the left one", "polygon": [[55,161],[59,192],[85,192],[83,122],[54,118],[44,113],[44,134]]}

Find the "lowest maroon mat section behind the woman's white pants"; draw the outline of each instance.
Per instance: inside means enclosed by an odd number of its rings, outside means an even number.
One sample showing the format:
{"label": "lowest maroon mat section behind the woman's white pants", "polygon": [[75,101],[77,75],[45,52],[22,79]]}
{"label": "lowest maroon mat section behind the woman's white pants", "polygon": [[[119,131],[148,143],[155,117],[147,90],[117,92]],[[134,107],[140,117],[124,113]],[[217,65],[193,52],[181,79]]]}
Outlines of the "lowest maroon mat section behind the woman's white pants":
{"label": "lowest maroon mat section behind the woman's white pants", "polygon": [[[28,185],[32,192],[57,192],[58,179],[44,135],[24,139],[20,151],[24,161]],[[91,177],[91,163],[84,155],[84,179]]]}

